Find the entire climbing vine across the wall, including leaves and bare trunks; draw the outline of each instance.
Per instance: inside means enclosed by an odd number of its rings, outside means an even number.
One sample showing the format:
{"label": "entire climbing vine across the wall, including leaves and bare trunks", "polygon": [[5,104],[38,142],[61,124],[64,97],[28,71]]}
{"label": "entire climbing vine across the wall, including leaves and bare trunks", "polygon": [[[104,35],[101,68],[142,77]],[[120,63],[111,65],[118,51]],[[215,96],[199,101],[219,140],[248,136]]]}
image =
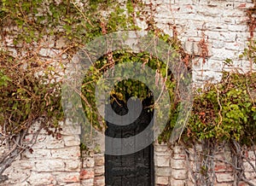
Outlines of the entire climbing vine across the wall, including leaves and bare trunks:
{"label": "entire climbing vine across the wall, including leaves and bare trunks", "polygon": [[[61,127],[58,125],[58,120],[63,119],[60,105],[60,72],[65,70],[65,61],[50,61],[49,58],[39,54],[39,50],[44,48],[41,44],[44,44],[45,36],[52,36],[54,42],[64,38],[65,49],[62,49],[57,57],[61,58],[62,54],[67,54],[70,59],[77,49],[93,38],[120,30],[139,30],[136,21],[145,20],[148,26],[145,30],[153,32],[170,44],[180,55],[181,61],[188,69],[190,68],[191,56],[183,50],[181,42],[177,39],[177,32],[171,38],[157,28],[152,3],[147,6],[149,10],[138,0],[128,0],[123,3],[99,0],[2,0],[0,2],[0,34],[3,41],[1,45],[3,49],[0,52],[0,139],[1,144],[11,145],[9,148],[11,150],[0,158],[0,182],[6,179],[3,171],[10,166],[15,157],[27,149],[32,152],[32,144],[36,142],[39,131],[35,132],[31,142],[23,142],[32,123],[37,121],[41,124],[39,130],[44,128],[50,135],[60,137]],[[252,38],[255,28],[254,9],[249,9],[247,13],[252,19],[249,25]],[[9,36],[12,44],[6,41]],[[203,40],[201,44],[205,45],[205,41]],[[54,44],[52,48],[55,47]],[[202,58],[207,55],[206,47],[205,51]],[[247,57],[249,61],[255,62],[255,51],[255,42],[251,40],[241,57]],[[117,63],[129,61],[136,61],[142,67],[148,65],[160,72],[160,77],[156,77],[155,81],[166,78],[166,88],[174,102],[170,105],[172,113],[169,123],[166,124],[159,141],[168,142],[181,109],[177,82],[172,72],[166,73],[163,62],[151,54],[114,51],[96,61],[96,65],[90,67],[89,72],[84,76],[82,85],[84,112],[94,127],[101,130],[106,127],[99,122],[102,119],[99,118],[96,110],[95,84],[106,70]],[[126,102],[129,97],[124,93],[128,92],[143,100],[150,96],[148,88],[142,89],[143,86],[140,82],[126,79],[115,86],[110,96]],[[240,167],[241,161],[246,160],[243,154],[244,145],[251,147],[256,141],[255,90],[256,75],[250,72],[224,73],[223,80],[219,84],[207,84],[204,89],[195,91],[194,106],[189,124],[183,132],[182,142],[186,147],[190,147],[191,143],[201,142],[209,149],[206,154],[201,153],[203,161],[199,172],[203,178],[195,175],[195,183],[198,185],[204,183],[210,185],[211,179],[214,179],[208,171],[211,170],[209,165],[214,159],[216,142],[229,142],[234,154],[234,162],[236,161],[232,164],[235,167],[236,177],[238,180],[247,181]],[[189,151],[187,153],[191,154]]]}

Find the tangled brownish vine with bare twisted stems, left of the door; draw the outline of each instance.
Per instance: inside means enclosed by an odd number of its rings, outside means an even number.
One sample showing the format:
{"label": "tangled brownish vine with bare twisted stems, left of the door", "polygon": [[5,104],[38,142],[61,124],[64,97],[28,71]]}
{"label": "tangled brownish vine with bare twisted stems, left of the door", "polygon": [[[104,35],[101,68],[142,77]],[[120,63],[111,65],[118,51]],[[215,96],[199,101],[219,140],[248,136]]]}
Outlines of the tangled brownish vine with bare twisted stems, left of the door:
{"label": "tangled brownish vine with bare twisted stems, left of the door", "polygon": [[[56,80],[55,67],[44,61],[34,61],[29,56],[26,63],[0,51],[0,181],[11,163],[21,153],[29,150],[37,141],[41,129],[53,137],[61,137],[58,120],[63,118],[61,111],[61,83]],[[44,70],[44,73],[42,71]],[[38,123],[37,131],[29,131],[32,124]],[[32,134],[25,141],[27,134]]]}

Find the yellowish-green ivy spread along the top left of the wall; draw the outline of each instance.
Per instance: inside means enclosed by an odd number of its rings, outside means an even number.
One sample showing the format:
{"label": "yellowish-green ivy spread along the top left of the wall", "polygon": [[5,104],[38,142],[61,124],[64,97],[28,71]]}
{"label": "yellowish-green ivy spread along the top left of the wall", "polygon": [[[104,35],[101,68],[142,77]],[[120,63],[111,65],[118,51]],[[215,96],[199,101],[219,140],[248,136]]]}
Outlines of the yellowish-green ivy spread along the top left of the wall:
{"label": "yellowish-green ivy spread along the top left of the wall", "polygon": [[2,26],[17,26],[15,44],[38,42],[46,35],[67,38],[73,46],[88,43],[107,32],[138,29],[132,18],[132,5],[116,1],[76,3],[63,0],[2,0]]}

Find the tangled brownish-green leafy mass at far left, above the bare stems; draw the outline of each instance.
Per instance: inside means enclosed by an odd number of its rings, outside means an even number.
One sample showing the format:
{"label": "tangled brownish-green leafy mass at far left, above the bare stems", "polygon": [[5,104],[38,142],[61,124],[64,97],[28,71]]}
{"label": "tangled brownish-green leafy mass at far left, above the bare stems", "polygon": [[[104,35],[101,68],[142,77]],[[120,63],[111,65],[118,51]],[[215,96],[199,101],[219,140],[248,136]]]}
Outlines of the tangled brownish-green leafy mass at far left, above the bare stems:
{"label": "tangled brownish-green leafy mass at far left, above the bare stems", "polygon": [[57,121],[62,119],[60,90],[53,67],[40,73],[39,61],[16,61],[14,57],[0,53],[0,127],[6,135],[17,135],[26,130],[36,119],[44,118],[42,124],[49,134]]}

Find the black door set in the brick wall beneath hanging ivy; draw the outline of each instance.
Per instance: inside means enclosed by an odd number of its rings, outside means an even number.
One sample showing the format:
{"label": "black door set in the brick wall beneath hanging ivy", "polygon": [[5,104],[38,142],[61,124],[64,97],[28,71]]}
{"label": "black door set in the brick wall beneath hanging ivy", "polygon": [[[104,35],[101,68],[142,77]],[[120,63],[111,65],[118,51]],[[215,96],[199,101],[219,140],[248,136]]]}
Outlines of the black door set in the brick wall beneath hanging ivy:
{"label": "black door set in the brick wall beneath hanging ivy", "polygon": [[[150,99],[143,101],[143,111],[131,125],[113,125],[107,123],[108,137],[131,137],[143,131],[151,119],[153,112],[148,108]],[[115,101],[112,103],[115,113],[124,115],[128,108],[124,102]],[[108,113],[106,113],[108,114]],[[148,138],[153,137],[149,134]],[[150,139],[149,139],[150,140]],[[125,148],[125,144],[122,144]],[[131,144],[127,144],[131,145]],[[106,140],[106,147],[112,148]],[[149,145],[142,150],[126,155],[105,155],[105,179],[108,186],[153,186],[154,185],[154,149]]]}

